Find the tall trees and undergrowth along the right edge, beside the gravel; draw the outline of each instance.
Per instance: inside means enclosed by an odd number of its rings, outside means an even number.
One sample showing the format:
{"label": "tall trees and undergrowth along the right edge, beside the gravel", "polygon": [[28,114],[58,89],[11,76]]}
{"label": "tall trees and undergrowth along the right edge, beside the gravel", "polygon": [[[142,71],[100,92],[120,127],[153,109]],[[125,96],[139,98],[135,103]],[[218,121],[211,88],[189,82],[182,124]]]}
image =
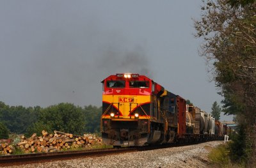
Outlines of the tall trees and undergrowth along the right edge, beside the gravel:
{"label": "tall trees and undergrowth along the right edge, beside the gravel", "polygon": [[256,164],[256,1],[205,0],[195,20],[200,55],[224,97],[225,114],[234,114],[239,131],[230,158]]}

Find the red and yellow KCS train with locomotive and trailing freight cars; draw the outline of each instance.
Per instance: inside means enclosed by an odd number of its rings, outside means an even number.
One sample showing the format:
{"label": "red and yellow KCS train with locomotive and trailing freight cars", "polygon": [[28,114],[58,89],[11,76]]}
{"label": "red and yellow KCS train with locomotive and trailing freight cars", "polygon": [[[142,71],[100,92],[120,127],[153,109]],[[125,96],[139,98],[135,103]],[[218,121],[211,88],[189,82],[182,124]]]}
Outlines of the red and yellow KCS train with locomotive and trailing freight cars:
{"label": "red and yellow KCS train with locomotive and trailing freight cars", "polygon": [[144,146],[223,138],[211,114],[138,73],[102,80],[100,131],[105,144]]}

